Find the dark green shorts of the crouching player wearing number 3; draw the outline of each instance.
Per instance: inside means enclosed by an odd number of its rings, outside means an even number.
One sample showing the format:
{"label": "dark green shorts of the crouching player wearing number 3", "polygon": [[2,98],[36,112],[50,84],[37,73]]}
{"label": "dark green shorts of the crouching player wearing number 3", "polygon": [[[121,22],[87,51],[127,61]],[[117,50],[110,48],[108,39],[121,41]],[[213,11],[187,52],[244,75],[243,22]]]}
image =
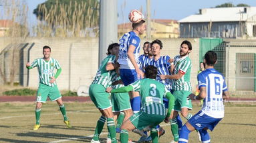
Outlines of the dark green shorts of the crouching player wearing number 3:
{"label": "dark green shorts of the crouching player wearing number 3", "polygon": [[142,130],[147,126],[150,126],[150,128],[156,128],[156,126],[160,124],[164,118],[164,115],[147,114],[146,112],[140,110],[140,112],[137,112],[130,117],[130,122],[132,122],[136,128]]}

